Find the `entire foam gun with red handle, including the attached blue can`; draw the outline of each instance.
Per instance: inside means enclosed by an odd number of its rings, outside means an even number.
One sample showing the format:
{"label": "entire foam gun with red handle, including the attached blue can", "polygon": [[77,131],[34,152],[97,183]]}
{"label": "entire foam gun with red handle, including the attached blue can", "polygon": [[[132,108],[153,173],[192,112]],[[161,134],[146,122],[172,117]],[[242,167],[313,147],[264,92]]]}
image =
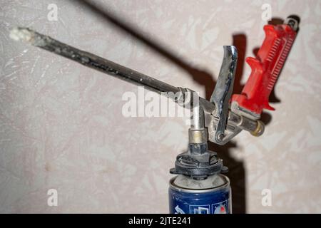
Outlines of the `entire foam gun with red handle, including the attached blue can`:
{"label": "entire foam gun with red handle, including the attached blue can", "polygon": [[192,113],[189,146],[187,152],[176,157],[175,167],[170,170],[176,175],[170,180],[170,213],[215,214],[232,212],[231,191],[228,177],[222,174],[228,168],[223,166],[223,160],[216,152],[208,150],[208,140],[224,145],[242,130],[255,136],[263,134],[260,114],[263,109],[274,110],[269,105],[269,96],[295,40],[298,23],[297,17],[290,16],[285,24],[264,26],[265,40],[256,58],[246,59],[252,72],[240,95],[232,95],[238,51],[235,46],[224,46],[223,63],[213,95],[210,100],[197,97],[196,102],[192,99],[195,98],[193,90],[171,86],[29,28],[14,28],[10,36],[83,66],[168,95],[175,102],[189,103]]}

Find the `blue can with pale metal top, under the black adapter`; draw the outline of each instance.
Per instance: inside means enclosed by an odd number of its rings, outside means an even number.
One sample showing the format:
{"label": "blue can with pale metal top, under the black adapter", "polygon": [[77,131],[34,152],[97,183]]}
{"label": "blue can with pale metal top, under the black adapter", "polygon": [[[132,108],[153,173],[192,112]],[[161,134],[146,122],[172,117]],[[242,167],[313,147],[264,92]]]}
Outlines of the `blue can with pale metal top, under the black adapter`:
{"label": "blue can with pale metal top, under the black adapter", "polygon": [[204,180],[178,175],[170,180],[171,214],[230,214],[230,180],[225,175],[211,175]]}

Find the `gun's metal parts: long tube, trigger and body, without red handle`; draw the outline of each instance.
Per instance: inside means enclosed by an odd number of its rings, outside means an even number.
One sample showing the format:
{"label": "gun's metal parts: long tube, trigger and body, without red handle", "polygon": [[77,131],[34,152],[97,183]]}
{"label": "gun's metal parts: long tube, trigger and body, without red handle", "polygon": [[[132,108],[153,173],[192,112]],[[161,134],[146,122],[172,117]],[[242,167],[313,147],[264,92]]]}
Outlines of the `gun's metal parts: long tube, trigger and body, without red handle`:
{"label": "gun's metal parts: long tube, trigger and body, without red handle", "polygon": [[[168,98],[173,98],[176,102],[178,100],[181,101],[181,99],[183,99],[183,103],[188,102],[188,100],[185,100],[183,92],[191,90],[171,86],[168,83],[158,81],[156,78],[146,76],[143,73],[108,61],[105,58],[68,46],[66,43],[56,41],[54,38],[32,31],[29,28],[14,28],[11,31],[11,38],[30,43],[46,51],[51,51],[57,55],[76,61],[83,66],[93,68],[123,81],[144,86],[148,90],[152,90],[161,95],[167,95]],[[240,133],[241,130],[256,133],[254,134],[256,136],[261,135],[264,131],[264,125],[258,120],[245,119],[243,116],[232,113],[229,110],[228,98],[233,88],[236,59],[237,51],[235,47],[225,46],[218,86],[215,87],[213,98],[210,101],[205,98],[199,98],[199,109],[193,110],[194,119],[192,120],[191,132],[193,132],[193,130],[204,131],[205,128],[207,128],[208,140],[220,145],[228,142]],[[172,97],[171,95],[173,94],[175,95]],[[199,134],[200,133],[196,135]],[[205,134],[202,133],[201,135]]]}

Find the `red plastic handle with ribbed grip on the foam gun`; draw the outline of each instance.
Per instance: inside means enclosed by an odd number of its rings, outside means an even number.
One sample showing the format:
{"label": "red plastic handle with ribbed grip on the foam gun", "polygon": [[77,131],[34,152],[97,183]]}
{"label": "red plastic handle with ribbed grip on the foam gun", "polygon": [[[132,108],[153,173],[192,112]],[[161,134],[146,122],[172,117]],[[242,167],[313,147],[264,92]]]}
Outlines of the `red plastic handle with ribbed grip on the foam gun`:
{"label": "red plastic handle with ribbed grip on the foam gun", "polygon": [[260,115],[263,108],[275,110],[269,105],[269,96],[296,36],[296,32],[286,24],[266,25],[264,31],[265,40],[257,58],[246,58],[252,69],[250,78],[242,93],[232,97],[232,102],[237,102],[240,108],[254,115]]}

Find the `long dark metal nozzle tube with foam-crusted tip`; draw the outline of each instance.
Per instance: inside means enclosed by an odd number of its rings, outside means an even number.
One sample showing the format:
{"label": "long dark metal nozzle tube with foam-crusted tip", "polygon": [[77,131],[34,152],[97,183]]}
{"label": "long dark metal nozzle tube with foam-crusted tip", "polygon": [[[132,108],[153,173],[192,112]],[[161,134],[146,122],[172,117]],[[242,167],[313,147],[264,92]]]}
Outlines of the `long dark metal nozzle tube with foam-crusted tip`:
{"label": "long dark metal nozzle tube with foam-crusted tip", "polygon": [[[43,48],[46,51],[51,51],[59,56],[76,61],[83,66],[93,68],[96,71],[101,71],[137,86],[144,86],[146,89],[161,95],[165,95],[170,92],[180,93],[180,89],[175,86],[159,81],[156,78],[146,76],[143,73],[133,71],[130,68],[113,63],[112,61],[108,61],[106,58],[101,58],[92,53],[73,48],[72,46],[68,46],[66,43],[61,43],[50,36],[37,33],[29,28],[14,28],[11,30],[10,36],[16,41],[30,43],[33,46]],[[208,113],[212,113],[215,110],[215,105],[204,98],[200,98],[200,106]]]}

